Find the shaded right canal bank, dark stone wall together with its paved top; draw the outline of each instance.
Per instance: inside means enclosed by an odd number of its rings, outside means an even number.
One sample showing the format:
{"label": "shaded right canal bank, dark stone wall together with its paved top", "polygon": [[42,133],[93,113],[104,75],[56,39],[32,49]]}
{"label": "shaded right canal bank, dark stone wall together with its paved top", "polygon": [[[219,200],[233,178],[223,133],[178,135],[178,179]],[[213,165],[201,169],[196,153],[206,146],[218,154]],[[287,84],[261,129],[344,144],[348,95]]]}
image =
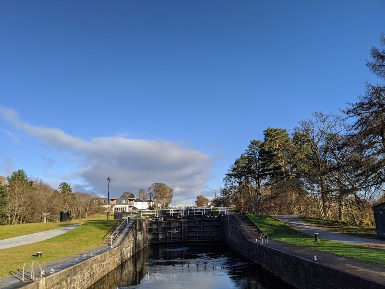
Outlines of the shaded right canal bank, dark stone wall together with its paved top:
{"label": "shaded right canal bank, dark stone wall together with its paved top", "polygon": [[260,244],[237,215],[222,218],[226,243],[296,288],[385,288],[385,266],[269,240]]}

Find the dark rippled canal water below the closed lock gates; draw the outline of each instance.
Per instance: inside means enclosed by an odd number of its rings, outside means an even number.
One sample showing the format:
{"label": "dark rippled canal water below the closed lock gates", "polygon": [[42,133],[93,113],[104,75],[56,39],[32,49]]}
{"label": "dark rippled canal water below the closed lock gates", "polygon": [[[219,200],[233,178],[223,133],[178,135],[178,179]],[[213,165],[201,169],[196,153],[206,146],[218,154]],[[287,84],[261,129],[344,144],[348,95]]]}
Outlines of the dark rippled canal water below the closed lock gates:
{"label": "dark rippled canal water below the closed lock gates", "polygon": [[89,289],[292,289],[261,267],[211,244],[152,245]]}

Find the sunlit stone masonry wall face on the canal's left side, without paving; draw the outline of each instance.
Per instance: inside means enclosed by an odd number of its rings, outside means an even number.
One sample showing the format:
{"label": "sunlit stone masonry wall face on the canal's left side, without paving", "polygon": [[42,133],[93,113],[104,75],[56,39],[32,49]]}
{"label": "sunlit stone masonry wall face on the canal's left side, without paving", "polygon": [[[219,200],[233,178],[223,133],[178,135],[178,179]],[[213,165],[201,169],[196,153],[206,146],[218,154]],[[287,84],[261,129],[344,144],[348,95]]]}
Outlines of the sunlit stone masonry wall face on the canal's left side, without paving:
{"label": "sunlit stone masonry wall face on the canal's left side, without paving", "polygon": [[[131,221],[134,222],[134,221]],[[136,220],[123,244],[29,284],[28,288],[87,289],[147,246],[147,222]]]}

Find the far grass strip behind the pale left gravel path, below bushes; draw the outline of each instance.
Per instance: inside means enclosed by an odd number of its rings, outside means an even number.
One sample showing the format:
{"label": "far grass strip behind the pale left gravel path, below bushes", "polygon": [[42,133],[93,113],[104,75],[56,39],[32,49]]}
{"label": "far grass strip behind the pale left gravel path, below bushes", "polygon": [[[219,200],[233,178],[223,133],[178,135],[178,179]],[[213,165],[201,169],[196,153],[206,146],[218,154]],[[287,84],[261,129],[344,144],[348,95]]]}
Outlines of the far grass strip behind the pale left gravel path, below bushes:
{"label": "far grass strip behind the pale left gravel path, below bushes", "polygon": [[[114,216],[110,216],[110,218],[114,218]],[[44,232],[48,230],[59,229],[62,227],[66,227],[69,225],[85,223],[93,220],[105,220],[107,219],[106,215],[80,219],[80,220],[72,220],[71,222],[48,222],[48,223],[27,223],[27,224],[19,224],[19,225],[4,225],[0,226],[0,240],[29,235],[38,232]]]}

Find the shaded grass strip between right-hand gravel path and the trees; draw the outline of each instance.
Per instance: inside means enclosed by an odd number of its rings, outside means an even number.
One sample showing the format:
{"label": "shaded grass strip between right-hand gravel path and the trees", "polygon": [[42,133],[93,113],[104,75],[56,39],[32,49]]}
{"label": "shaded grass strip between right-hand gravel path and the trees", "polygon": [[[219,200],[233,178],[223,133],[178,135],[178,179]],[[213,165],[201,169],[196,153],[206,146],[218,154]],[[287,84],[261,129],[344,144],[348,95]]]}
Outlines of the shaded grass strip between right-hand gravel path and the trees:
{"label": "shaded grass strip between right-hand gravel path and the trees", "polygon": [[343,233],[354,237],[376,239],[377,232],[374,226],[353,226],[346,223],[341,223],[335,220],[323,220],[318,218],[300,217],[302,220],[312,223],[317,227],[333,231],[336,233]]}

